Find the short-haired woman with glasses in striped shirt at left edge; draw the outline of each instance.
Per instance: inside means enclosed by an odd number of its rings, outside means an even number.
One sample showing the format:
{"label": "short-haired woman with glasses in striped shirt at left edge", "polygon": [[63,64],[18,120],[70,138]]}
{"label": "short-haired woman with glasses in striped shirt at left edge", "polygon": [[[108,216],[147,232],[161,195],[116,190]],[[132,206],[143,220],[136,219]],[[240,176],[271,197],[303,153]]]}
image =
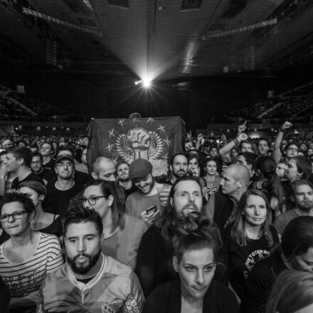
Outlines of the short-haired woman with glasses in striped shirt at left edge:
{"label": "short-haired woman with glasses in striped shirt at left edge", "polygon": [[34,211],[33,201],[21,193],[7,193],[0,201],[1,227],[10,237],[0,245],[0,276],[10,290],[10,312],[34,312],[41,282],[63,264],[58,238],[31,230]]}

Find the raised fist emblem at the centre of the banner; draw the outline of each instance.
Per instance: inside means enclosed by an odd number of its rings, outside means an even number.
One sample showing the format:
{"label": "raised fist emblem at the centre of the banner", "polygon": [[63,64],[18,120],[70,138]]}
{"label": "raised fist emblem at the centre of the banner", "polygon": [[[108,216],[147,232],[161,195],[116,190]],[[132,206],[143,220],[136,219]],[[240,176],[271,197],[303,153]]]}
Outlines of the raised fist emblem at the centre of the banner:
{"label": "raised fist emblem at the centre of the banner", "polygon": [[134,159],[142,158],[149,159],[149,147],[152,138],[143,128],[129,129],[126,136],[126,144],[134,150]]}

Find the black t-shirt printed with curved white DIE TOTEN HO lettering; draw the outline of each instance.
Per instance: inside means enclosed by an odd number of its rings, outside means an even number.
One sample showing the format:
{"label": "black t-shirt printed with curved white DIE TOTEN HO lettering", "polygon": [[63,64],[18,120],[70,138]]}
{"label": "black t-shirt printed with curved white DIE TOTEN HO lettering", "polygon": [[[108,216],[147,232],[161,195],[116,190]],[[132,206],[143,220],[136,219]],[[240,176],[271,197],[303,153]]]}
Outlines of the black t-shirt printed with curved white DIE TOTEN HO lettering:
{"label": "black t-shirt printed with curved white DIE TOTEN HO lettering", "polygon": [[274,227],[270,226],[272,234],[272,245],[267,243],[267,239],[262,237],[255,240],[247,240],[247,245],[240,246],[233,238],[231,238],[232,225],[226,228],[223,234],[223,248],[227,253],[229,281],[237,295],[243,299],[243,286],[248,277],[248,273],[253,269],[255,264],[263,258],[270,255],[272,248],[279,243],[278,235]]}

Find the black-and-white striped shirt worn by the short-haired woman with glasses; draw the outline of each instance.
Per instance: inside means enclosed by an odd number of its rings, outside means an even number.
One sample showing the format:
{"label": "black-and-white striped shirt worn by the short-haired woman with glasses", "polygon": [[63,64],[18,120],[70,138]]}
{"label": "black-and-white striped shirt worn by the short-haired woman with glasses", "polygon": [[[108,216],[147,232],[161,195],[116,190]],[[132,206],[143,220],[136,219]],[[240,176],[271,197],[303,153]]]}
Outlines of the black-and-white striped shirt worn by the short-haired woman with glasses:
{"label": "black-and-white striped shirt worn by the short-haired woman with glasses", "polygon": [[0,276],[8,285],[11,297],[25,297],[39,289],[50,272],[63,264],[60,243],[55,235],[40,233],[33,255],[23,262],[11,262],[0,245]]}

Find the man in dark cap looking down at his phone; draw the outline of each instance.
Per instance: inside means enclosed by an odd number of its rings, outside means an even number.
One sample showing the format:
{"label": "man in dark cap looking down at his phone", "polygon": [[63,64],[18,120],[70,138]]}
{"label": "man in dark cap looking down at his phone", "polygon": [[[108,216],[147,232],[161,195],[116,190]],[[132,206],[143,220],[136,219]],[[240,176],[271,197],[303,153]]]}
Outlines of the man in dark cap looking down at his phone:
{"label": "man in dark cap looking down at his phone", "polygon": [[[152,176],[152,164],[147,159],[135,159],[129,166],[129,178],[137,186],[138,191],[130,194],[125,203],[125,211],[142,218],[149,226],[159,216],[161,204],[159,201],[158,189],[163,184],[154,181]],[[157,211],[146,212],[148,208],[157,206]]]}

